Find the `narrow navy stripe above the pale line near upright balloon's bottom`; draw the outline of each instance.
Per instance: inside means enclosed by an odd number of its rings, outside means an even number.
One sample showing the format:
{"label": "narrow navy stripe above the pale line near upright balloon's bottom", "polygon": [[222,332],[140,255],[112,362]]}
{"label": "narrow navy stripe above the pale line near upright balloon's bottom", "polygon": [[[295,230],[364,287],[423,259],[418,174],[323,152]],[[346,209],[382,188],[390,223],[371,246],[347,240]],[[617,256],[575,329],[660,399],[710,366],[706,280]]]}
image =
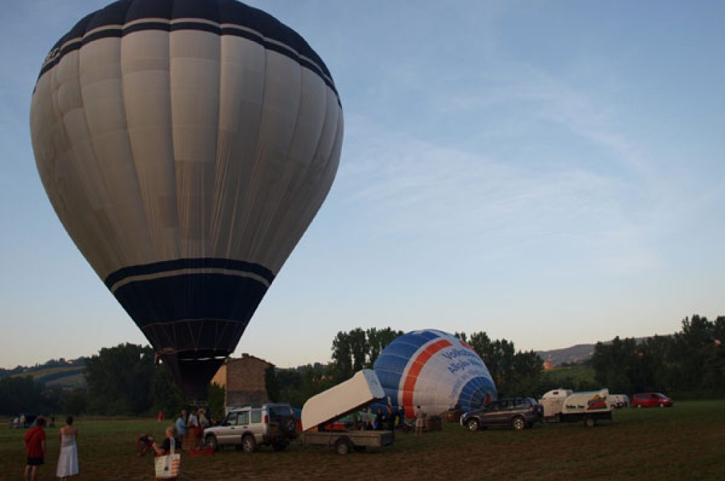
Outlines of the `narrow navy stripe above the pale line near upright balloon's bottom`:
{"label": "narrow navy stripe above the pale line near upright balloon's bottom", "polygon": [[[238,261],[235,259],[219,259],[215,257],[202,257],[198,259],[173,259],[170,261],[154,262],[152,264],[138,264],[128,266],[112,272],[104,283],[111,289],[115,284],[138,275],[153,275],[163,272],[177,271],[179,269],[228,269],[244,273],[251,273],[263,277],[268,283],[274,280],[274,273],[260,264],[254,262]],[[239,276],[227,276],[239,277]]]}

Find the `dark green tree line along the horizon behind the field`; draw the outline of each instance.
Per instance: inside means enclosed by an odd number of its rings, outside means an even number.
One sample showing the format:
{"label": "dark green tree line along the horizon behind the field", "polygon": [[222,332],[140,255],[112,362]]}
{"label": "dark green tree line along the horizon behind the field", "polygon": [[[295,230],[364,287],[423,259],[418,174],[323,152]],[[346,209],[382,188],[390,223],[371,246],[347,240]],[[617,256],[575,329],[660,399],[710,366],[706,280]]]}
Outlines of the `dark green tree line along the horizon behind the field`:
{"label": "dark green tree line along the horizon behind the field", "polygon": [[[360,369],[372,368],[389,343],[402,335],[391,327],[357,327],[337,332],[327,364],[265,372],[265,385],[272,401],[301,407],[307,399]],[[542,359],[534,351],[516,351],[506,339],[492,340],[486,332],[456,332],[481,356],[494,380],[499,396],[540,396],[552,388],[589,390],[606,387],[610,392],[661,391],[672,396],[725,396],[725,317],[711,322],[692,316],[682,321],[673,335],[645,340],[615,338],[597,343],[589,361],[594,375],[587,378],[559,377],[553,385],[542,370]],[[86,365],[85,388],[63,390],[35,382],[30,376],[0,377],[0,413],[45,412],[99,415],[173,416],[184,405],[183,393],[163,365],[154,364],[149,346],[121,344],[102,348],[82,359]],[[210,385],[207,401],[212,416],[223,416],[224,390]]]}

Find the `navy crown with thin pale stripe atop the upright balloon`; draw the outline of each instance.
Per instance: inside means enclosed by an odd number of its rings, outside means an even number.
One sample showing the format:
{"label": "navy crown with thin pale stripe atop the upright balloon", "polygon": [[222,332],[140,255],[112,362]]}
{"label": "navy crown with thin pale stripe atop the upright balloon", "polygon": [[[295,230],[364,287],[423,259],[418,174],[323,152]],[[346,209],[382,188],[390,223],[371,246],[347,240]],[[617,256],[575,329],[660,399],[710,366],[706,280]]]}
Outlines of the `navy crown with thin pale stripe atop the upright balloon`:
{"label": "navy crown with thin pale stripe atop the upright balloon", "polygon": [[[149,19],[149,21],[144,21]],[[174,24],[154,21],[187,20]],[[237,28],[210,25],[207,22],[194,22],[194,19],[215,22],[218,25],[237,25]],[[135,22],[123,28],[130,22]],[[91,30],[91,33],[83,38]],[[249,32],[249,30],[254,32]],[[339,94],[332,82],[330,71],[318,54],[310,47],[297,32],[276,20],[270,14],[259,9],[249,7],[236,0],[120,0],[108,5],[104,9],[83,17],[75,26],[60,38],[48,54],[47,61],[41,69],[40,78],[45,72],[53,68],[68,52],[77,50],[82,44],[100,38],[112,38],[127,35],[141,30],[201,30],[217,33],[219,35],[235,35],[260,43],[265,49],[283,54],[304,67],[314,71],[335,92],[338,103]],[[72,45],[63,47],[66,43]],[[270,41],[271,40],[271,41]],[[82,43],[81,43],[82,42]],[[284,46],[280,46],[282,43]]]}

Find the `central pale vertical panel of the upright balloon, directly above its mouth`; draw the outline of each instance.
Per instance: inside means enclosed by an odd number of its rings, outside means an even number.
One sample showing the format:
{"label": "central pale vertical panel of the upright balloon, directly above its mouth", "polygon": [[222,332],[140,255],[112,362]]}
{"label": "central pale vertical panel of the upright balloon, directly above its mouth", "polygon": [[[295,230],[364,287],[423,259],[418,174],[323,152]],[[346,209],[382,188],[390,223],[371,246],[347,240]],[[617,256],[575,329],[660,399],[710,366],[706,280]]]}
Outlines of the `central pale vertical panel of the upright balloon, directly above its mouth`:
{"label": "central pale vertical panel of the upright balloon, directly above its mouth", "polygon": [[171,118],[181,256],[207,256],[219,120],[219,51],[215,33],[169,35]]}

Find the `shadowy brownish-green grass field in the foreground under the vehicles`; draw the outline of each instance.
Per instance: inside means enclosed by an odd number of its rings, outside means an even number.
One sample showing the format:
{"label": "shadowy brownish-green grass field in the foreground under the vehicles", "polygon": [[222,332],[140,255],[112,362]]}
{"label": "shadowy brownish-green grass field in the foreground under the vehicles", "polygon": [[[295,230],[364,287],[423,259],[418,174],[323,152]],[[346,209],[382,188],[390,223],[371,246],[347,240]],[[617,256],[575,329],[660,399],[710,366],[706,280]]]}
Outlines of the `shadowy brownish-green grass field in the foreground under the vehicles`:
{"label": "shadowy brownish-green grass field in the foreground under the vehicles", "polygon": [[[593,429],[580,423],[534,429],[397,434],[383,453],[340,456],[292,444],[277,453],[226,449],[182,457],[186,480],[725,480],[725,401],[689,401],[669,409],[621,409]],[[7,424],[4,424],[7,425]],[[165,424],[150,419],[78,419],[80,473],[87,480],[150,480],[153,459],[136,454],[143,432]],[[22,479],[22,430],[0,430],[0,479]],[[47,430],[49,453],[39,472],[55,479],[57,429]]]}

